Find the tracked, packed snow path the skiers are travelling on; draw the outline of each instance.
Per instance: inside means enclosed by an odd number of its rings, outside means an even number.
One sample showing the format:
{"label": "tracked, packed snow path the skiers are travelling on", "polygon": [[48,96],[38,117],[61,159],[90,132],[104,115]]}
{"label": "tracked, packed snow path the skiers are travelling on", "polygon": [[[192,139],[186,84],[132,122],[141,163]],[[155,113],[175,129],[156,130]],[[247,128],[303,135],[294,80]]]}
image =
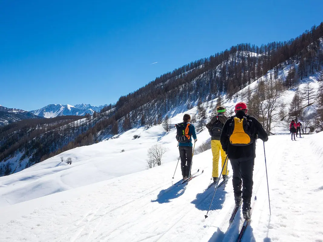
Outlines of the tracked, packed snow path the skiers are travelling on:
{"label": "tracked, packed snow path the skiers are travelling on", "polygon": [[[297,141],[277,135],[266,142],[271,216],[258,140],[257,201],[242,241],[323,241],[322,138],[323,133]],[[193,157],[193,170],[204,174],[186,187],[172,186],[176,163],[2,207],[1,241],[235,241],[242,222],[239,210],[228,228],[231,179],[225,191],[218,189],[204,218],[214,191],[203,191],[211,178],[211,151]],[[180,178],[177,170],[173,183]]]}

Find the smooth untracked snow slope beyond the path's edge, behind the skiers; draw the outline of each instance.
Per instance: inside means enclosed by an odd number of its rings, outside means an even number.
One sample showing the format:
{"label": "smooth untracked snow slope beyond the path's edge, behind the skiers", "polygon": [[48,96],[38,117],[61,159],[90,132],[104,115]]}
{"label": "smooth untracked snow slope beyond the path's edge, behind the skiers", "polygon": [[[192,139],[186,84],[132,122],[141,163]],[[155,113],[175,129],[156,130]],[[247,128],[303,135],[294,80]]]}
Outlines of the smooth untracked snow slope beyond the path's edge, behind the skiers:
{"label": "smooth untracked snow slope beyond the path's edge, behind the skiers", "polygon": [[[181,113],[173,117],[172,123],[180,122],[182,116]],[[142,171],[147,165],[147,150],[155,143],[169,149],[164,162],[176,160],[175,133],[173,128],[166,134],[161,125],[132,129],[118,138],[68,150],[18,173],[1,177],[0,184],[4,187],[0,189],[0,206]],[[141,137],[134,139],[134,135]],[[202,142],[207,138],[209,134],[204,129],[199,139]],[[125,152],[121,152],[123,149]],[[61,162],[60,157],[65,161],[71,157],[72,165]]]}

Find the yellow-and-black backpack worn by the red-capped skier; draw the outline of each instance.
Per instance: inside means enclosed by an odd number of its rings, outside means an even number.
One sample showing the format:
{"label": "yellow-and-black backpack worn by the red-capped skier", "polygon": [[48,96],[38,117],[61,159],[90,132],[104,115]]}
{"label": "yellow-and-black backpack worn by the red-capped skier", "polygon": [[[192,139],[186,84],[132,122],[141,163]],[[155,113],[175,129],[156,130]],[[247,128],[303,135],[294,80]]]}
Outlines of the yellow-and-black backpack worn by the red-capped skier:
{"label": "yellow-and-black backpack worn by the red-capped skier", "polygon": [[[251,122],[252,120],[243,117],[242,119],[234,117],[230,126],[233,131],[229,135],[230,144],[233,146],[247,146],[253,143],[251,136]],[[231,130],[232,130],[231,129]]]}

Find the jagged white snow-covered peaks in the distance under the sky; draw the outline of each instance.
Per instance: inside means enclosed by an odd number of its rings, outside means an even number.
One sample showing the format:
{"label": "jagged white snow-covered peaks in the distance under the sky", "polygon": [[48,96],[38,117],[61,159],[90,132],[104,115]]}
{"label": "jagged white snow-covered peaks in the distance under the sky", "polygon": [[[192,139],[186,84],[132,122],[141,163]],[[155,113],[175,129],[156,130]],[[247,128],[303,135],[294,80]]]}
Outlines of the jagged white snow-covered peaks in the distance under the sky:
{"label": "jagged white snow-covered peaks in the distance under the sky", "polygon": [[77,104],[77,105],[61,105],[61,104],[49,104],[43,108],[37,110],[31,110],[30,112],[41,117],[53,118],[63,115],[77,115],[84,116],[86,114],[93,115],[94,112],[100,112],[100,110],[107,105],[91,106],[90,104]]}

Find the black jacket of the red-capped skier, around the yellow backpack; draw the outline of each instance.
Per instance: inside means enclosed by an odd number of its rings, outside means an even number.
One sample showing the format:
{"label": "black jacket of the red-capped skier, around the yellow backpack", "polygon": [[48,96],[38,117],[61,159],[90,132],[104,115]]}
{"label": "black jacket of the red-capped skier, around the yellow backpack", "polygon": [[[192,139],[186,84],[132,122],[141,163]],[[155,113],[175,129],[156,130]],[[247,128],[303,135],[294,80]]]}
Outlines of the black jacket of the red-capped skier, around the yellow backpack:
{"label": "black jacket of the red-capped skier, around the yellow backpack", "polygon": [[252,144],[247,145],[247,146],[233,146],[229,142],[229,128],[230,128],[230,123],[232,122],[234,116],[231,116],[224,124],[221,137],[220,137],[220,142],[222,145],[223,150],[225,153],[228,155],[229,159],[239,159],[239,158],[255,158],[256,153],[255,153],[255,148],[256,148],[256,139],[260,138],[263,141],[268,140],[268,135],[266,131],[264,130],[263,126],[259,123],[259,121],[250,115],[245,115],[244,111],[239,110],[236,114],[236,117],[238,118],[243,118],[244,116],[247,117],[247,119],[250,119],[251,122],[251,130],[253,130],[253,138],[254,141]]}

